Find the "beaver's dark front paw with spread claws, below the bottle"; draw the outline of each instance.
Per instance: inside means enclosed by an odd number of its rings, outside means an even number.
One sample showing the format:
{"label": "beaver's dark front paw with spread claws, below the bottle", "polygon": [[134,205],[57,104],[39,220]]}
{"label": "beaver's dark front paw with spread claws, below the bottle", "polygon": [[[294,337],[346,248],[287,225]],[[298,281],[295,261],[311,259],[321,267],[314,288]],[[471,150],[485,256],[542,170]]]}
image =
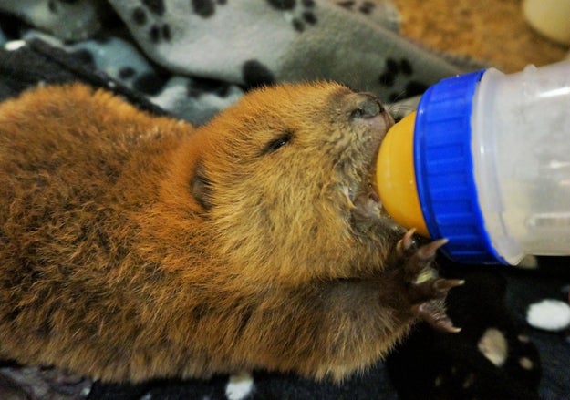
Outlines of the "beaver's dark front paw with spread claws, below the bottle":
{"label": "beaver's dark front paw with spread claws, below the bottle", "polygon": [[411,312],[431,326],[445,332],[458,333],[461,328],[453,326],[445,312],[445,297],[455,286],[464,283],[457,279],[440,278],[432,267],[436,251],[447,243],[440,239],[429,244],[418,246],[413,235],[415,230],[409,230],[398,242],[397,251],[403,259],[404,280]]}

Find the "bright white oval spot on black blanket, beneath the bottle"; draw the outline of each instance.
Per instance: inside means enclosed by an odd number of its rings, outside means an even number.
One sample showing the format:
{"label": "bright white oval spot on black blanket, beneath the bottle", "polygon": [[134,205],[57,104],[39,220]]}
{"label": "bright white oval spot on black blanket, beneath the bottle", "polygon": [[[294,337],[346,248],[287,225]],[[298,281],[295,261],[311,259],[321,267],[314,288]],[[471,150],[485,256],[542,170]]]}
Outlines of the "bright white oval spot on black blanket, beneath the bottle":
{"label": "bright white oval spot on black blanket, beneath the bottle", "polygon": [[552,299],[533,303],[526,312],[526,322],[545,331],[561,331],[570,326],[570,305]]}

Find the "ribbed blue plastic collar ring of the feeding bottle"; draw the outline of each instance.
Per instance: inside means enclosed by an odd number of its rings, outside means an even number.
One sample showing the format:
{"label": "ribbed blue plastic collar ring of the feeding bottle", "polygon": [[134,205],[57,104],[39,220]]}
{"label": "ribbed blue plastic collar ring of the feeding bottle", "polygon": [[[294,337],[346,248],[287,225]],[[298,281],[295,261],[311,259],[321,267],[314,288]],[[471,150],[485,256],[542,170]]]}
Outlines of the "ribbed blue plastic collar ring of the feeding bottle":
{"label": "ribbed blue plastic collar ring of the feeding bottle", "polygon": [[473,174],[472,100],[485,70],[450,77],[421,97],[414,127],[415,173],[432,239],[451,260],[504,262],[485,231]]}

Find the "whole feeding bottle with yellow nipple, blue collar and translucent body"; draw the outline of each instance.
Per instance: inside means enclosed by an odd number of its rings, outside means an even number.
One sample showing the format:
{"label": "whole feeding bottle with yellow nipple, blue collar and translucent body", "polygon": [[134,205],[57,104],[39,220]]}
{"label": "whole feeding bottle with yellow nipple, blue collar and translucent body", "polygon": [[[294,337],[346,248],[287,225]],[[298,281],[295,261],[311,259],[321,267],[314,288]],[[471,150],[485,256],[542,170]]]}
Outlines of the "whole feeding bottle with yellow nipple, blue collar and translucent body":
{"label": "whole feeding bottle with yellow nipple, blue collar and translucent body", "polygon": [[457,262],[570,255],[570,61],[443,79],[378,154],[391,217]]}

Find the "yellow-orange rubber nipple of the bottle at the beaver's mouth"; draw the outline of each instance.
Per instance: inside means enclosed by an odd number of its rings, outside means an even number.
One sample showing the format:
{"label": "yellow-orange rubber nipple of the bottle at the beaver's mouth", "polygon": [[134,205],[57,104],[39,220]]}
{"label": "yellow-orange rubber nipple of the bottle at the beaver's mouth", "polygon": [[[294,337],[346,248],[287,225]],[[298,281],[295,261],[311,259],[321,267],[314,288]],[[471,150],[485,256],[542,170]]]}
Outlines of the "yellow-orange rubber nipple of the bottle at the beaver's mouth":
{"label": "yellow-orange rubber nipple of the bottle at the beaver's mouth", "polygon": [[384,209],[404,228],[430,237],[421,212],[414,171],[413,141],[416,112],[389,129],[380,146],[376,168],[378,194]]}

